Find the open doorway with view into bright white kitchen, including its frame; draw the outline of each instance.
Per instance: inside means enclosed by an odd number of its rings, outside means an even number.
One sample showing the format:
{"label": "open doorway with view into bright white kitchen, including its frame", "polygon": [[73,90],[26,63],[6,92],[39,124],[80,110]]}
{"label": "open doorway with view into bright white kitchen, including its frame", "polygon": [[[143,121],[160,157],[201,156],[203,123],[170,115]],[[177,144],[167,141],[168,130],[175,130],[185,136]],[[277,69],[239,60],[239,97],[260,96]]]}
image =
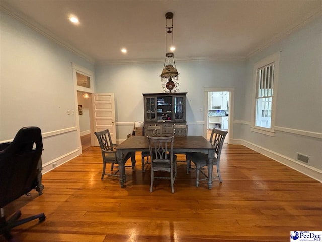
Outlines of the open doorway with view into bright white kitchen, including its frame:
{"label": "open doorway with view into bright white kitchen, including its frame", "polygon": [[226,130],[226,144],[232,141],[234,88],[205,88],[205,137],[210,139],[213,128]]}

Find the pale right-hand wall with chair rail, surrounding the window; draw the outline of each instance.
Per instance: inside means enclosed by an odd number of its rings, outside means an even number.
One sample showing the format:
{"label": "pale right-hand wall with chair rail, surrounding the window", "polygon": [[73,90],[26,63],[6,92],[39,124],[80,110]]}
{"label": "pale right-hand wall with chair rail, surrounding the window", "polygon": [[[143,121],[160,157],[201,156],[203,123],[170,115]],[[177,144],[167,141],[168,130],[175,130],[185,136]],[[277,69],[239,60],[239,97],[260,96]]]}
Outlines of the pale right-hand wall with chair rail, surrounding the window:
{"label": "pale right-hand wall with chair rail, surrounding the window", "polygon": [[[260,59],[280,52],[275,137],[250,131],[251,109],[245,108],[234,138],[261,150],[289,166],[306,168],[322,180],[322,17],[292,33],[247,63],[245,107],[252,104],[253,65]],[[310,156],[308,165],[297,162],[297,152]],[[317,170],[318,169],[318,170]]]}

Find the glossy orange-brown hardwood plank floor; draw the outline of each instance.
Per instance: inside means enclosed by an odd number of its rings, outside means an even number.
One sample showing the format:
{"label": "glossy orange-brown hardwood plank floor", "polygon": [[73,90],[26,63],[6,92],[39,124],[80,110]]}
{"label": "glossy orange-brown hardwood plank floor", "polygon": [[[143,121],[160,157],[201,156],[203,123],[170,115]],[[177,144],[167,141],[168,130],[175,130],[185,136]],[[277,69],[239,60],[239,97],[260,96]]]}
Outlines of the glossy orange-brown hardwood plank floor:
{"label": "glossy orange-brown hardwood plank floor", "polygon": [[[179,160],[184,156],[179,155]],[[290,231],[321,231],[322,184],[240,145],[224,145],[223,183],[195,187],[195,172],[178,163],[175,193],[169,180],[149,192],[150,167],[101,180],[98,147],[43,175],[44,193],[6,206],[22,217],[44,212],[46,220],[14,228],[18,241],[290,241]],[[107,171],[109,169],[107,168]],[[3,239],[0,237],[0,241]]]}

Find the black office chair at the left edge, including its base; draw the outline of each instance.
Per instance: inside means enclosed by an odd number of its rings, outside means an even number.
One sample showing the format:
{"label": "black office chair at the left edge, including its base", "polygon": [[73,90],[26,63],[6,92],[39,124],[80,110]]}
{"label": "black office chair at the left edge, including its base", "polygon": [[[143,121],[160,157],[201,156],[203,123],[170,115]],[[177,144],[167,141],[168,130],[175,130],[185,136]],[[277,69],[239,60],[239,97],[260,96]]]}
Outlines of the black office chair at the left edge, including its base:
{"label": "black office chair at the left edge, including its base", "polygon": [[0,151],[0,233],[10,241],[13,237],[11,229],[29,221],[39,219],[44,221],[46,216],[40,213],[18,220],[21,211],[17,211],[10,219],[5,219],[4,207],[28,194],[38,185],[37,168],[42,153],[41,130],[38,127],[24,127],[18,131],[14,140]]}

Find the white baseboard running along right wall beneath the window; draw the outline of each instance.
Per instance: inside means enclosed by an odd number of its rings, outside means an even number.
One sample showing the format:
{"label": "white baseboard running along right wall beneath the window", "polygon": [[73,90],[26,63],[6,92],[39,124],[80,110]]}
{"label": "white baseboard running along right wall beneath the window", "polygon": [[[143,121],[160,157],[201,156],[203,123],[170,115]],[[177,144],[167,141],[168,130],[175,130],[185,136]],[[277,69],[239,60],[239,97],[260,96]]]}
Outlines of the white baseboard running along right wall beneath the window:
{"label": "white baseboard running along right wall beneath the window", "polygon": [[254,143],[248,142],[243,139],[234,139],[233,144],[239,144],[239,145],[244,145],[247,148],[250,148],[251,150],[254,150],[262,155],[265,155],[283,165],[286,165],[304,175],[307,175],[320,183],[322,183],[322,170],[319,170],[317,168],[311,167],[306,164],[302,164],[297,160],[294,160],[290,157],[287,157],[285,155],[279,154],[275,151],[266,149],[264,147],[261,147],[259,145],[256,145]]}

